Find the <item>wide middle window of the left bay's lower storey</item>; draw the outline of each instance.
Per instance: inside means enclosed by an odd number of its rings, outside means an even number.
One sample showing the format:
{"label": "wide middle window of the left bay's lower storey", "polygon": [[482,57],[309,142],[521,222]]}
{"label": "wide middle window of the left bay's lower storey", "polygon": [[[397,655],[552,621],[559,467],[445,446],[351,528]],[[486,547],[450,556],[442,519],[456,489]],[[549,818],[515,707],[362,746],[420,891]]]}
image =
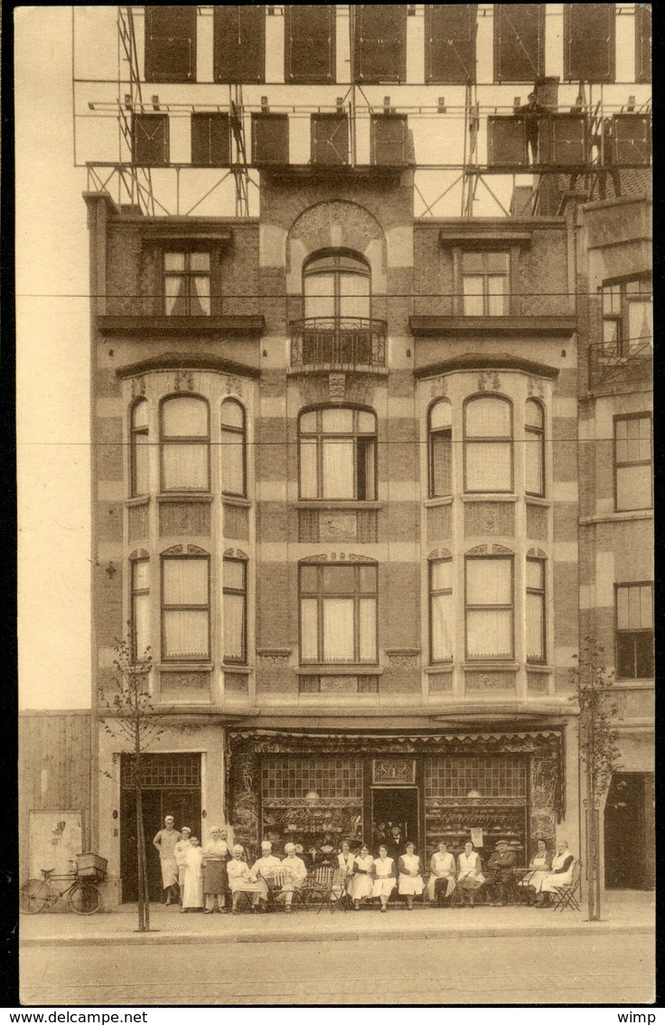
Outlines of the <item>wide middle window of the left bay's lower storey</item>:
{"label": "wide middle window of the left bay's lower storey", "polygon": [[210,658],[210,560],[162,559],[162,658]]}

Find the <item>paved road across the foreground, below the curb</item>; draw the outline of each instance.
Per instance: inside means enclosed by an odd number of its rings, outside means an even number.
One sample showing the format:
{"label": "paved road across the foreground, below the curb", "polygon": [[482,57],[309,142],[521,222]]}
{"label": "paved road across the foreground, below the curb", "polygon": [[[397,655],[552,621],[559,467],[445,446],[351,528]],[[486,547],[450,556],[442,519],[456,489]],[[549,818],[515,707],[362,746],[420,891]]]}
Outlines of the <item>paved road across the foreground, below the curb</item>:
{"label": "paved road across the foreground, below the curb", "polygon": [[648,935],[29,947],[20,992],[29,1007],[635,1004],[653,999],[653,948]]}

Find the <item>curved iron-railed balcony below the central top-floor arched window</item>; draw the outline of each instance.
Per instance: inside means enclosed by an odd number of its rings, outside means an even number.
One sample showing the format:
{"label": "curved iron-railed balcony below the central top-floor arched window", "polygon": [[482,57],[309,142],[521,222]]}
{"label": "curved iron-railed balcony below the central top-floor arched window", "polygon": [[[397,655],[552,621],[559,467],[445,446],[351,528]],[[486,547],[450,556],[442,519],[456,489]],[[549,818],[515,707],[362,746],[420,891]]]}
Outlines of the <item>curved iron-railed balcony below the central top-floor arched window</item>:
{"label": "curved iron-railed balcony below the central top-floor arched window", "polygon": [[291,322],[295,370],[383,370],[387,325],[365,317],[309,317]]}

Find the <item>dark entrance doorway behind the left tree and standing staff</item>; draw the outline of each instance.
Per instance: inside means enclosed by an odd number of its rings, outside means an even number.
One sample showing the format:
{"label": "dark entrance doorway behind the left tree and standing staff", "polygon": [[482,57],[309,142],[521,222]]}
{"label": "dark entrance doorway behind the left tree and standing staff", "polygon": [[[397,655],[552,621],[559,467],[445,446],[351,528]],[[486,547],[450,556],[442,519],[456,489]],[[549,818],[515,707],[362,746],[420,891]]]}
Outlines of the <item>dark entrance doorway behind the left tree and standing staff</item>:
{"label": "dark entrance doorway behind the left tree and standing staff", "polygon": [[[176,829],[187,825],[201,839],[201,755],[144,754],[143,834],[149,899],[162,899],[162,868],[160,854],[152,847],[152,837],[164,825],[166,815],[173,815]],[[123,902],[138,899],[136,865],[136,797],[132,785],[132,766],[123,756],[120,801],[120,872],[123,880]]]}

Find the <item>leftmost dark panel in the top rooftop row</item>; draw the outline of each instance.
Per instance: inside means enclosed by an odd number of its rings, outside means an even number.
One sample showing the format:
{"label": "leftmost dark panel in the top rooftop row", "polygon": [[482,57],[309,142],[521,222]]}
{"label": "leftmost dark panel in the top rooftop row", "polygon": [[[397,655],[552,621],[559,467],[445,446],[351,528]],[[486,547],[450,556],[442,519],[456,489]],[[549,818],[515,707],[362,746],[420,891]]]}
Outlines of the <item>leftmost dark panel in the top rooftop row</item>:
{"label": "leftmost dark panel in the top rooftop row", "polygon": [[145,81],[196,81],[196,7],[145,6]]}

